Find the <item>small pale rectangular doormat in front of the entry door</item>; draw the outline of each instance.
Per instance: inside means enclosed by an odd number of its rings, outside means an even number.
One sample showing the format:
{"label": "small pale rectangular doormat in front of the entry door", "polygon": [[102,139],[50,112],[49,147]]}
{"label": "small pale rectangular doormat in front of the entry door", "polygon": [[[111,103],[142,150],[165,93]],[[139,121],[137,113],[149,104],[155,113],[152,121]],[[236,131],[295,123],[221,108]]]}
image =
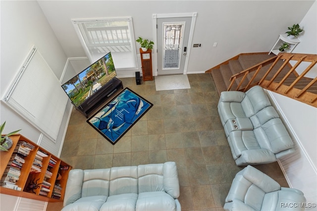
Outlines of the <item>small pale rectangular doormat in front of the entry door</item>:
{"label": "small pale rectangular doormat in front of the entry door", "polygon": [[190,89],[187,75],[162,75],[155,77],[157,91],[173,89]]}

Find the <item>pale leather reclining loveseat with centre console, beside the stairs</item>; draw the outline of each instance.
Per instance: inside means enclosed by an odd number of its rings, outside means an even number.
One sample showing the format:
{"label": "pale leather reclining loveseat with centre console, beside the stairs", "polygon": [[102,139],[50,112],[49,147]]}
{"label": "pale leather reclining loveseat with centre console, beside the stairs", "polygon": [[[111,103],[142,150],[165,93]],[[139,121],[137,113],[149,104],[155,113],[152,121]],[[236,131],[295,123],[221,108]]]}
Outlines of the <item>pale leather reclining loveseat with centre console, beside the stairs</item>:
{"label": "pale leather reclining loveseat with centre console, beside the stairs", "polygon": [[237,165],[274,162],[294,152],[294,143],[262,87],[221,92],[218,113]]}

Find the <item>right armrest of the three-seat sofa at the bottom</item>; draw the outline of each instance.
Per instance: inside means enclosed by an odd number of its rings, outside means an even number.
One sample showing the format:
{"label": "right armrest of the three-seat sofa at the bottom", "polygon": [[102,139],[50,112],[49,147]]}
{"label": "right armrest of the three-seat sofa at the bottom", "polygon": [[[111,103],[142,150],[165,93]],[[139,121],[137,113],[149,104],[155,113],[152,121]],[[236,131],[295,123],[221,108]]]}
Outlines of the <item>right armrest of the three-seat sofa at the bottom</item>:
{"label": "right armrest of the three-seat sofa at the bottom", "polygon": [[163,164],[163,188],[174,199],[179,197],[179,181],[176,163],[165,162]]}

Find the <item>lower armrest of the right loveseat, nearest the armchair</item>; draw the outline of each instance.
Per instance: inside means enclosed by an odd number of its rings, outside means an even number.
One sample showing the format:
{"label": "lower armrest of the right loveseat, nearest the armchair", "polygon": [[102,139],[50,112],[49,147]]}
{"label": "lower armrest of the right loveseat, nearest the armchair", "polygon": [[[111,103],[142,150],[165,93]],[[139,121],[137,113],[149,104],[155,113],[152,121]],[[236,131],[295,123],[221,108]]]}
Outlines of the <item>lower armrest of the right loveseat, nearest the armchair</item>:
{"label": "lower armrest of the right loveseat, nearest the armchair", "polygon": [[236,159],[237,165],[261,164],[274,162],[276,157],[274,153],[265,149],[245,150],[241,152],[241,156]]}

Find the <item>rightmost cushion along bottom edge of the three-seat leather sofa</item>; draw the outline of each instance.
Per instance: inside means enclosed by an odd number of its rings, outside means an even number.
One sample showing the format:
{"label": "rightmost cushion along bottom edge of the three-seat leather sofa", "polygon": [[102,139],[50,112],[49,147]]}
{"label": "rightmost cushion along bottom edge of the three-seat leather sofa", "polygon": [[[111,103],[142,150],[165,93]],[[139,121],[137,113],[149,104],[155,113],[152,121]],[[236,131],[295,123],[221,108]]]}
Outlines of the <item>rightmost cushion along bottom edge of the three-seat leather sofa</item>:
{"label": "rightmost cushion along bottom edge of the three-seat leather sofa", "polygon": [[138,196],[136,211],[175,211],[175,199],[163,191],[144,192]]}

